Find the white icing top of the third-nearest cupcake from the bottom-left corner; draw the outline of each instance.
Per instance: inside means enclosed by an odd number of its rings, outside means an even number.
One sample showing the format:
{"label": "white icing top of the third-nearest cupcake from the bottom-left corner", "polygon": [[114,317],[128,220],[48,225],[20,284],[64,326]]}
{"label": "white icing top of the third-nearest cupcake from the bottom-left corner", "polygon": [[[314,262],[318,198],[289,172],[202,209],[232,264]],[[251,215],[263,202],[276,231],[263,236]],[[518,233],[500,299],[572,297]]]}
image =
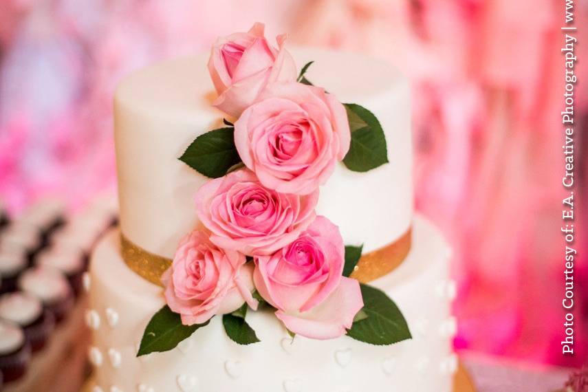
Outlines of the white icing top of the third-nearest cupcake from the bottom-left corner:
{"label": "white icing top of the third-nearest cupcake from the bottom-left corner", "polygon": [[70,288],[65,277],[51,268],[36,267],[26,270],[19,278],[23,292],[36,296],[43,303],[66,298]]}

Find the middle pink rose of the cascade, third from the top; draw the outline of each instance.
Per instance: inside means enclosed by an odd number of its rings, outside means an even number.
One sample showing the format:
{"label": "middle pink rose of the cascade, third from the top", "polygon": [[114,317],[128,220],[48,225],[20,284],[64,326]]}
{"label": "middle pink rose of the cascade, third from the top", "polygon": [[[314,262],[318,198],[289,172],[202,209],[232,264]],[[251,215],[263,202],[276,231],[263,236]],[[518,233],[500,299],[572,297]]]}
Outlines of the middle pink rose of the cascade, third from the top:
{"label": "middle pink rose of the cascade, third from the top", "polygon": [[272,254],[314,221],[318,190],[305,196],[265,188],[248,169],[206,182],[196,193],[196,214],[223,249]]}

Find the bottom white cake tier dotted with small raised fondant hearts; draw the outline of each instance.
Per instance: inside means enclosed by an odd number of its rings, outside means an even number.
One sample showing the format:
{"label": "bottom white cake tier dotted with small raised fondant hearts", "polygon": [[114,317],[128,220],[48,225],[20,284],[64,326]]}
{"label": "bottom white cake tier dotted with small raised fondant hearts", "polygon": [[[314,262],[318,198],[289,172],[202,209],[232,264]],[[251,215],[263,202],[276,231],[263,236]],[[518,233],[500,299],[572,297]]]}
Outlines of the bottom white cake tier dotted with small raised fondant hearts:
{"label": "bottom white cake tier dotted with small raised fondant hearts", "polygon": [[237,345],[215,317],[175,349],[137,358],[143,331],[164,299],[160,287],[124,264],[119,237],[113,230],[98,244],[86,282],[93,392],[453,391],[450,248],[422,217],[415,218],[406,260],[370,283],[389,294],[409,323],[413,338],[391,346],[347,336],[292,339],[270,312],[249,312],[261,342]]}

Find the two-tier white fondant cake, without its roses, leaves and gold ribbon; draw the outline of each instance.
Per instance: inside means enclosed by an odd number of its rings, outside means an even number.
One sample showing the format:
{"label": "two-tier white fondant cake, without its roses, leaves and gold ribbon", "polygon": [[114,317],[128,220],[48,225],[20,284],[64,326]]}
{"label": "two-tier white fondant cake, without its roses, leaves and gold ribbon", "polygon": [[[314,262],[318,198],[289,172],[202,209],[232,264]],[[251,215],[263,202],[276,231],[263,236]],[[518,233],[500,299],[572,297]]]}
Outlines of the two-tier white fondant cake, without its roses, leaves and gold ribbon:
{"label": "two-tier white fondant cake, without its roses, leaves and gold ribbon", "polygon": [[208,179],[177,160],[223,113],[206,72],[206,56],[160,63],[124,80],[115,100],[120,231],[94,251],[86,287],[94,343],[94,391],[435,391],[452,390],[457,359],[448,279],[450,250],[439,232],[413,217],[409,85],[393,67],[357,54],[292,52],[315,61],[307,78],[372,111],[384,129],[388,157],[367,173],[338,164],[320,188],[317,213],[340,227],[345,243],[364,252],[400,239],[412,227],[409,256],[370,284],[404,314],[413,338],[374,346],[348,336],[296,336],[270,312],[250,312],[261,342],[237,345],[216,316],[175,349],[136,357],[149,319],[164,305],[162,289],[132,272],[120,253],[120,232],[149,252],[173,257],[197,224],[194,195]]}

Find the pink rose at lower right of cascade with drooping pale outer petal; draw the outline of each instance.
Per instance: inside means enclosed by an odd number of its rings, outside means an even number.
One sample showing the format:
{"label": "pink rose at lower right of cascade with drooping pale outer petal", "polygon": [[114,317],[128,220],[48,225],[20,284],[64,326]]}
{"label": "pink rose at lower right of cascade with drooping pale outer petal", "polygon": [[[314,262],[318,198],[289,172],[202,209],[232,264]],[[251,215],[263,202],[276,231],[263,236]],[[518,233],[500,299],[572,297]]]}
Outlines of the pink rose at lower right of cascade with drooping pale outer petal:
{"label": "pink rose at lower right of cascade with drooping pale outer petal", "polygon": [[363,307],[359,282],[342,276],[344,261],[338,227],[319,216],[290,245],[257,257],[253,281],[287,329],[307,338],[337,338]]}

